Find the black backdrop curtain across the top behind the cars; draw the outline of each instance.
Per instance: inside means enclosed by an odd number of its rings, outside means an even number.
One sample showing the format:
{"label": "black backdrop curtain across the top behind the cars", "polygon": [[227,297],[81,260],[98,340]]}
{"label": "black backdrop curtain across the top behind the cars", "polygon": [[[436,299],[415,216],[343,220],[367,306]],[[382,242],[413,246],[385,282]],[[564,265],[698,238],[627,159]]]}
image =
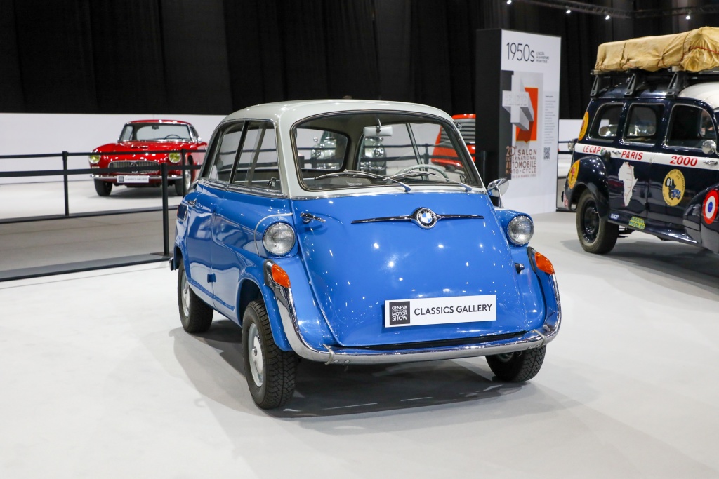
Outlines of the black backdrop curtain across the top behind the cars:
{"label": "black backdrop curtain across the top behind the cars", "polygon": [[352,96],[472,113],[475,31],[505,28],[562,37],[560,116],[581,118],[601,42],[713,20],[505,0],[0,0],[0,111],[226,114]]}

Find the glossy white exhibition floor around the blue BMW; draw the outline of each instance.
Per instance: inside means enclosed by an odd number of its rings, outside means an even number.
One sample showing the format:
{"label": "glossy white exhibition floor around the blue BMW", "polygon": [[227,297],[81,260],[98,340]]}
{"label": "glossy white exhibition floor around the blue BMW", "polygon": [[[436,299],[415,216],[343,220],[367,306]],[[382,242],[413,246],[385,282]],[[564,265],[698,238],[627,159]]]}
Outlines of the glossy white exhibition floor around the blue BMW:
{"label": "glossy white exhibition floor around the blue BMW", "polygon": [[239,328],[183,332],[165,264],[0,283],[0,478],[718,478],[719,255],[535,220],[564,324],[521,385],[303,362],[267,413]]}

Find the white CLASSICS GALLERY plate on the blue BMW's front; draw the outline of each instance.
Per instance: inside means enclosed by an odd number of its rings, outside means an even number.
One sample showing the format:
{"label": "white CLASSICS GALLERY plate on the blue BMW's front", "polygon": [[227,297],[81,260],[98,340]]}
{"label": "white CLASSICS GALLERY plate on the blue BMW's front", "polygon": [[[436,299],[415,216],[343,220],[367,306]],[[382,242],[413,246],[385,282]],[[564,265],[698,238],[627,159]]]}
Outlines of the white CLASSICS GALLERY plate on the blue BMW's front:
{"label": "white CLASSICS GALLERY plate on the blue BMW's front", "polygon": [[497,320],[495,294],[385,301],[386,327],[495,320]]}

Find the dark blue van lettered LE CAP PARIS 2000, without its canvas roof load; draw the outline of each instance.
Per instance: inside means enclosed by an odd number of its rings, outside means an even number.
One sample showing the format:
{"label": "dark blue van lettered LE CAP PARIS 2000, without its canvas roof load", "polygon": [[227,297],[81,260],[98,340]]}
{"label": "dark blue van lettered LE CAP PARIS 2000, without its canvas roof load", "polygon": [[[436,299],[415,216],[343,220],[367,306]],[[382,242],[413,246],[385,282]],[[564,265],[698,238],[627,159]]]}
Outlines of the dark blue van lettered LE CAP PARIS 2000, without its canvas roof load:
{"label": "dark blue van lettered LE CAP PARIS 2000, without its canvas roof load", "polygon": [[595,72],[564,206],[585,251],[643,231],[719,252],[719,73]]}

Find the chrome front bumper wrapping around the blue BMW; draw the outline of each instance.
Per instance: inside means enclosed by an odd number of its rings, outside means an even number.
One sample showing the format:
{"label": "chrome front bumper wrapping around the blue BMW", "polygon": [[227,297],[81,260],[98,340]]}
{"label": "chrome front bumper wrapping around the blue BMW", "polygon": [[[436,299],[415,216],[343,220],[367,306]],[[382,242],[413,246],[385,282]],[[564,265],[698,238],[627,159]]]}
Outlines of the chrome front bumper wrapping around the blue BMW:
{"label": "chrome front bumper wrapping around the blue BMW", "polygon": [[265,260],[265,284],[275,293],[278,310],[287,340],[292,349],[302,358],[320,361],[325,364],[377,364],[403,363],[409,361],[438,361],[442,359],[474,358],[495,354],[515,353],[533,348],[541,348],[549,343],[559,332],[562,322],[562,306],[559,302],[557,278],[551,275],[554,298],[557,300],[557,314],[549,317],[541,327],[525,332],[523,335],[510,339],[487,341],[476,344],[463,344],[434,348],[407,348],[387,350],[372,348],[344,348],[342,346],[323,345],[319,350],[308,345],[301,335],[292,292],[290,289],[275,283],[272,276],[273,261]]}

